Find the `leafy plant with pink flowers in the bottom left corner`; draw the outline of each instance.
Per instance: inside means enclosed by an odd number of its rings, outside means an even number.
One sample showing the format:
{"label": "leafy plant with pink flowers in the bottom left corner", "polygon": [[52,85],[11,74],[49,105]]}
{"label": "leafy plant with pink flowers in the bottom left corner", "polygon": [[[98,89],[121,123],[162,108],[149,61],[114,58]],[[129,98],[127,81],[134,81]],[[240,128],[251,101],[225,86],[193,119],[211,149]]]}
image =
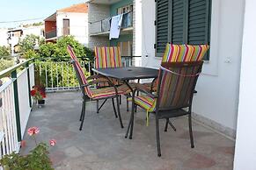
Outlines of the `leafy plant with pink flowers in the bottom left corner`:
{"label": "leafy plant with pink flowers in the bottom left corner", "polygon": [[[39,131],[38,127],[31,127],[27,131],[28,135],[33,138],[36,145],[29,154],[21,155],[19,153],[12,152],[11,154],[4,155],[4,157],[0,159],[0,166],[3,166],[5,170],[54,170],[52,162],[49,159],[48,148],[49,146],[54,146],[56,141],[55,139],[51,139],[49,141],[49,145],[43,142],[38,144],[35,136]],[[22,144],[24,145],[24,141]]]}

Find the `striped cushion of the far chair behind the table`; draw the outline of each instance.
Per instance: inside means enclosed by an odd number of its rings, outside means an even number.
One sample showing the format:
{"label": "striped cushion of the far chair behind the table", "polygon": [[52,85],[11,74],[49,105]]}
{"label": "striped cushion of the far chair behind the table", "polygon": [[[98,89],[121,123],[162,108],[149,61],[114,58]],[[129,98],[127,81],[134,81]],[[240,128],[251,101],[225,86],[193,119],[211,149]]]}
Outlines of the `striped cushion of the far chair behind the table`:
{"label": "striped cushion of the far chair behind the table", "polygon": [[[95,51],[95,67],[121,67],[121,53],[117,46],[110,47],[94,47]],[[110,79],[114,85],[121,85],[121,81]],[[98,88],[108,87],[108,82],[101,82],[97,84]]]}

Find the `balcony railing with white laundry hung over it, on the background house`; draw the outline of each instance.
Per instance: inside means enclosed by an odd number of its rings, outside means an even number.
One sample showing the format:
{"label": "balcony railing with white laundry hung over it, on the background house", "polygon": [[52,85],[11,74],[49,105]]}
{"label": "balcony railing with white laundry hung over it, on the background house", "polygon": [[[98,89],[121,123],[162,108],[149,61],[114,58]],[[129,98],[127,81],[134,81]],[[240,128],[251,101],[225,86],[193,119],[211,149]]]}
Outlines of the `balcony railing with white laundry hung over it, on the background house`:
{"label": "balcony railing with white laundry hung over it, on the background house", "polygon": [[[123,14],[121,29],[133,26],[133,12]],[[91,34],[109,32],[111,27],[111,18],[105,18],[91,23]]]}

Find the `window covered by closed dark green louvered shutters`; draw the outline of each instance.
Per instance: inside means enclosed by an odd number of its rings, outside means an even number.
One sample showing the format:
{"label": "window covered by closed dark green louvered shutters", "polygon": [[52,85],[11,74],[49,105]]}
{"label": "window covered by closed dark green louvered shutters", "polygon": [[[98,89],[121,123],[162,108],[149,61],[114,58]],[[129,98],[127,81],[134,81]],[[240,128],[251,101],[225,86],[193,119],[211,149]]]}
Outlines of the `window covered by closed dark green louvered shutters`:
{"label": "window covered by closed dark green louvered shutters", "polygon": [[211,0],[156,0],[156,5],[156,56],[163,56],[168,42],[209,45]]}

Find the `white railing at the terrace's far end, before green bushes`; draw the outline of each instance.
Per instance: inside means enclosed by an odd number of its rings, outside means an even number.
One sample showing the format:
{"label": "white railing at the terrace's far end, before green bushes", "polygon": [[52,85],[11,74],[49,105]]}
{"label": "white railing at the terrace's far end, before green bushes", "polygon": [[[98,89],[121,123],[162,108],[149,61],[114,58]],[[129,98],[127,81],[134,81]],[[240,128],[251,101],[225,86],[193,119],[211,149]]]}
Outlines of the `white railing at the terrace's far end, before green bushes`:
{"label": "white railing at the terrace's far end, before green bushes", "polygon": [[[133,57],[122,57],[123,67],[134,66]],[[80,61],[81,67],[84,69],[84,74],[89,76],[91,67],[94,67],[94,62]],[[35,76],[40,80],[40,83],[50,91],[62,91],[79,89],[79,83],[75,74],[75,70],[69,61],[43,61],[35,62]]]}

